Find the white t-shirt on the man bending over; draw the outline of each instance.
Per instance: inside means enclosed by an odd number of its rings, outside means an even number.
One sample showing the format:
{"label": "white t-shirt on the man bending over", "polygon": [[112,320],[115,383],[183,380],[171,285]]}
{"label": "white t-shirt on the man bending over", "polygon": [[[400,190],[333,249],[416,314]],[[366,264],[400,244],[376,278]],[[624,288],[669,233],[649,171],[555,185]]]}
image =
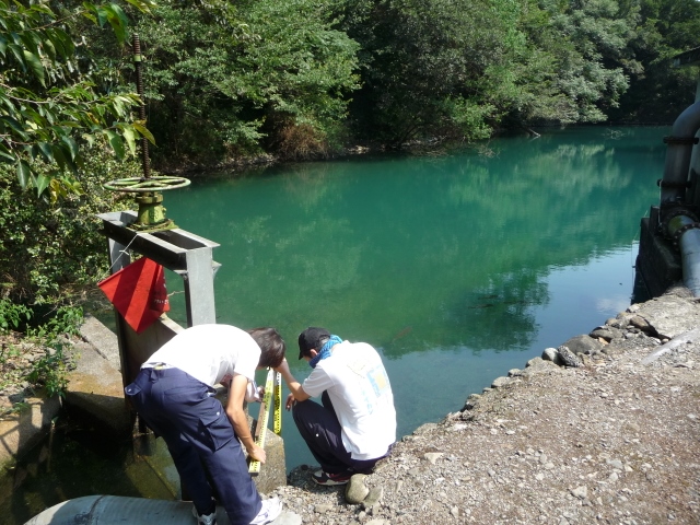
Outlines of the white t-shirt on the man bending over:
{"label": "white t-shirt on the man bending over", "polygon": [[165,363],[214,386],[224,376],[255,380],[260,347],[247,331],[230,325],[197,325],[177,334],[141,368]]}

